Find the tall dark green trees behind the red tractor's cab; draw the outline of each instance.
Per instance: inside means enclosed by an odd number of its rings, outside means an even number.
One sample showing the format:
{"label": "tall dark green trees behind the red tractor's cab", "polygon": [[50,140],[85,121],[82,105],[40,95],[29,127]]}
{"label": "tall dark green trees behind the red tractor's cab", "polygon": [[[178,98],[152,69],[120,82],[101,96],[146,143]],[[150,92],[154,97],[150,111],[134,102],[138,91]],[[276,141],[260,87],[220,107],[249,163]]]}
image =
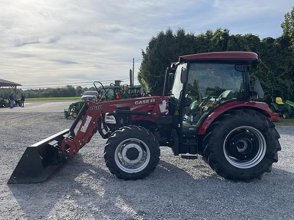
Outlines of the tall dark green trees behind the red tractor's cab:
{"label": "tall dark green trees behind the red tractor's cab", "polygon": [[[151,38],[142,51],[142,63],[138,73],[140,83],[156,94],[162,94],[164,74],[171,62],[179,56],[216,51],[256,52],[262,63],[251,73],[251,80],[258,78],[265,92],[264,101],[271,99],[272,89],[283,88],[283,97],[294,101],[294,7],[285,14],[281,24],[282,36],[260,39],[253,34],[230,34],[228,29],[211,30],[202,34],[175,33],[168,29]],[[280,93],[281,95],[281,93]]]}

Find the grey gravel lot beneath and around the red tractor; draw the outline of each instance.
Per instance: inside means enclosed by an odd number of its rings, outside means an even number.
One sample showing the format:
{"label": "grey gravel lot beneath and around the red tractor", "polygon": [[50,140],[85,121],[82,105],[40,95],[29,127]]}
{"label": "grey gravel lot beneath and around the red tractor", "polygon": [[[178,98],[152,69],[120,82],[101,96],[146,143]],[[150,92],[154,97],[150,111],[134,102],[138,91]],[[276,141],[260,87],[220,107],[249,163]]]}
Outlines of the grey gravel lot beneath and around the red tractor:
{"label": "grey gravel lot beneath and around the red tractor", "polygon": [[69,128],[62,113],[2,113],[0,219],[294,219],[294,127],[278,127],[282,151],[272,173],[250,183],[215,174],[202,159],[185,160],[161,148],[148,178],[124,181],[103,158],[95,135],[48,180],[7,184],[26,149]]}

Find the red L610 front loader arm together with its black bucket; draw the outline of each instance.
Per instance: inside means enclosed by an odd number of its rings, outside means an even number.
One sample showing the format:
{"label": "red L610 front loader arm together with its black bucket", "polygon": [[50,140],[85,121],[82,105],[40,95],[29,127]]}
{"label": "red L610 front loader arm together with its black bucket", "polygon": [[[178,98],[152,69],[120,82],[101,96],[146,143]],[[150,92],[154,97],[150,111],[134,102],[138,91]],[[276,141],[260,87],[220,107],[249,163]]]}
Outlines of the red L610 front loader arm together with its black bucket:
{"label": "red L610 front loader arm together with its black bucket", "polygon": [[[155,118],[164,114],[162,106],[160,108],[163,100],[167,101],[168,97],[142,97],[114,101],[86,100],[69,129],[27,147],[8,183],[31,183],[47,179],[91,140],[98,130],[98,122],[103,114],[119,112],[149,115]],[[81,119],[82,123],[75,133],[75,128]]]}

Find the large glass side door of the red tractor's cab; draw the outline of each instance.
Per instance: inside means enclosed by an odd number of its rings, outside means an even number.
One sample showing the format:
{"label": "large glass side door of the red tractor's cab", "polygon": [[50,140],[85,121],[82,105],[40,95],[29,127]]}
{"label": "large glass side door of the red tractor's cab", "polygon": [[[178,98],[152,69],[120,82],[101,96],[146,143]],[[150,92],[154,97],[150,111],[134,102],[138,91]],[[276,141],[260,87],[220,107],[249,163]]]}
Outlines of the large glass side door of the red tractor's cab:
{"label": "large glass side door of the red tractor's cab", "polygon": [[200,118],[220,104],[246,98],[244,72],[235,67],[234,64],[189,65],[185,97],[191,99],[191,104],[184,108],[183,130],[195,130]]}

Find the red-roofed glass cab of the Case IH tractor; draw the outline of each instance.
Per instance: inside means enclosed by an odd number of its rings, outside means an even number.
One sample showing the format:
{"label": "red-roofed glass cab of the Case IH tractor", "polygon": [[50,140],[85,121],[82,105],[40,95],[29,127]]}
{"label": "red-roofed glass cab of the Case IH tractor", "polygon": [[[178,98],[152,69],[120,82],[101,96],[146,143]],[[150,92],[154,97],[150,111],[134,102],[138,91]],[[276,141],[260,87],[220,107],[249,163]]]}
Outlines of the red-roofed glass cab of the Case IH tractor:
{"label": "red-roofed glass cab of the Case IH tractor", "polygon": [[[228,57],[235,57],[234,60]],[[182,56],[171,96],[179,114],[180,133],[198,131],[214,109],[228,103],[250,100],[249,71],[257,55],[250,52],[220,52]]]}

